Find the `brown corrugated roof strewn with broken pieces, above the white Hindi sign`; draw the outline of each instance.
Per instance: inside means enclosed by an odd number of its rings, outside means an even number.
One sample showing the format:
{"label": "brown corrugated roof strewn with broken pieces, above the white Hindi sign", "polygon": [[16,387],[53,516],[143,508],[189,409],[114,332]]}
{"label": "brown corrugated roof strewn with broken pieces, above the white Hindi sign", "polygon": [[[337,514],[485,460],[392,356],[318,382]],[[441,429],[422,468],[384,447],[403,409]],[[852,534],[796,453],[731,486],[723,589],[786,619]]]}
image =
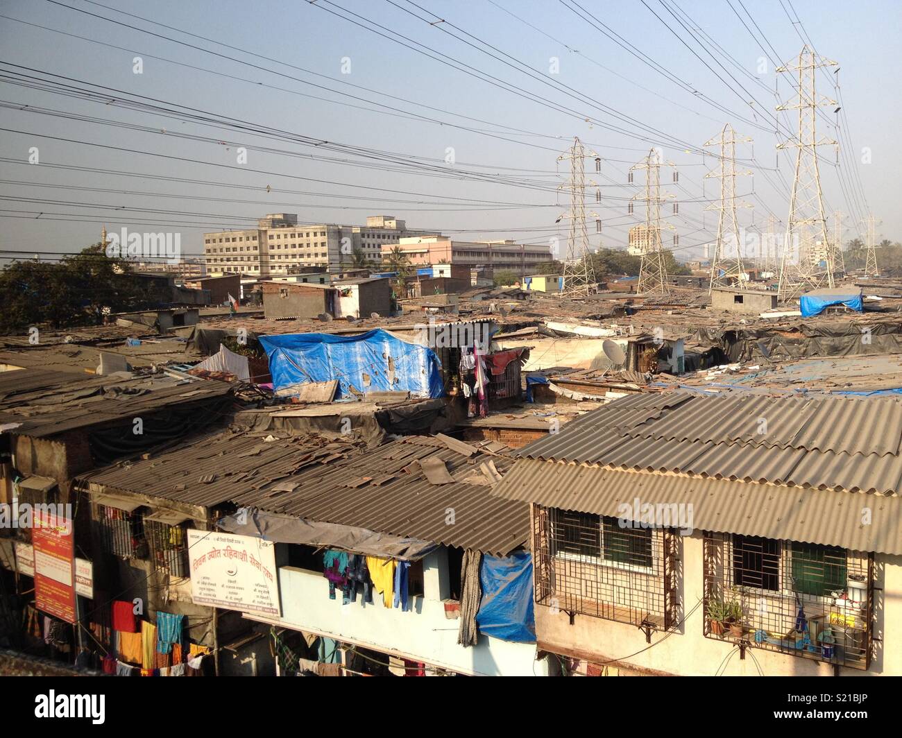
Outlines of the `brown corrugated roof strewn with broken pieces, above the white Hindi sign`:
{"label": "brown corrugated roof strewn with broken pieces, above the white Hindi sign", "polygon": [[[492,460],[503,474],[511,460],[490,454],[492,444],[473,446],[466,457],[419,436],[367,449],[315,435],[265,441],[224,433],[78,484],[204,507],[233,502],[503,556],[528,539],[529,507],[490,494],[479,465]],[[444,461],[455,482],[430,484],[418,463],[428,458]]]}

